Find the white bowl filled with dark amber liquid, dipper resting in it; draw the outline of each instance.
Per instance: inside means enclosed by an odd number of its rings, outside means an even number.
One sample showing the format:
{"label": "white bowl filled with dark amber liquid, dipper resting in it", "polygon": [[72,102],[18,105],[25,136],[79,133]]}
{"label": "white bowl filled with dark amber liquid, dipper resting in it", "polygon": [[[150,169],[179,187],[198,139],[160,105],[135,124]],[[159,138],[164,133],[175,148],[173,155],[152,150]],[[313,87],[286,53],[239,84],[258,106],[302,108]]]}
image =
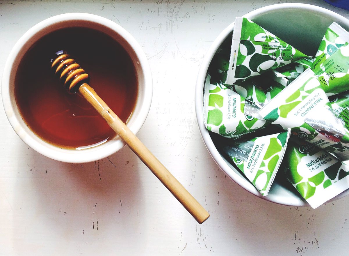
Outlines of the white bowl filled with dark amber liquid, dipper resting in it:
{"label": "white bowl filled with dark amber liquid, dipper resting in it", "polygon": [[51,70],[59,50],[79,62],[90,75],[89,85],[134,134],[142,127],[153,92],[147,58],[121,26],[85,13],[46,19],[14,45],[1,86],[11,126],[32,149],[58,161],[84,163],[114,154],[125,143]]}

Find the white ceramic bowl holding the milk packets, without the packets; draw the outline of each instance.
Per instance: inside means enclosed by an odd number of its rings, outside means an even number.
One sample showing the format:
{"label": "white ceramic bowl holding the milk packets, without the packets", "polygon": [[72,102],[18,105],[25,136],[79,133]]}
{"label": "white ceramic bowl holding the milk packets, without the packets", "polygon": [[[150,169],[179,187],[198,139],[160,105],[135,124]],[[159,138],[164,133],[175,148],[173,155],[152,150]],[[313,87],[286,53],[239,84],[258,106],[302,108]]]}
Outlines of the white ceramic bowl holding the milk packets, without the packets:
{"label": "white ceramic bowl holding the milk packets, without the packets", "polygon": [[[314,56],[318,50],[326,29],[333,21],[349,30],[349,20],[325,8],[302,3],[281,3],[266,6],[244,15],[261,27],[267,29],[285,42],[291,44],[304,54]],[[195,111],[201,136],[211,156],[217,165],[237,184],[260,198],[291,206],[308,206],[291,184],[275,179],[267,197],[262,196],[257,189],[218,152],[209,132],[203,122],[203,85],[208,66],[221,43],[231,36],[234,24],[230,24],[216,38],[209,48],[201,64],[195,88]],[[280,172],[281,174],[281,172]],[[281,180],[281,182],[280,182]],[[349,190],[332,200],[346,196]]]}

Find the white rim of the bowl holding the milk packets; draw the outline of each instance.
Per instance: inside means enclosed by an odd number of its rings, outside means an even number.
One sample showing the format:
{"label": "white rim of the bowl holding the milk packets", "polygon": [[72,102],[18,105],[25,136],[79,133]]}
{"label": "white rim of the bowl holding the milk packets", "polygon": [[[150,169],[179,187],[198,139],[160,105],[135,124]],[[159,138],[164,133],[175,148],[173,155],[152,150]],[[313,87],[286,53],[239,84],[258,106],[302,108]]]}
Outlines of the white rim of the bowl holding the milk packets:
{"label": "white rim of the bowl holding the milk packets", "polygon": [[[333,17],[334,21],[345,23],[349,26],[349,20],[345,17],[341,16],[340,14],[337,14],[331,10],[328,10],[323,7],[314,6],[306,3],[279,3],[275,5],[269,5],[265,7],[261,7],[259,9],[253,10],[242,17],[246,17],[248,19],[253,20],[255,17],[258,17],[259,15],[272,13],[275,10],[287,10],[287,9],[300,9],[300,10],[311,10],[318,13],[326,13],[327,15]],[[230,177],[235,183],[237,183],[240,187],[245,189],[246,191],[256,195],[259,198],[262,198],[264,200],[275,202],[277,204],[281,205],[288,205],[288,206],[309,206],[309,204],[303,199],[303,198],[292,198],[292,200],[284,201],[284,197],[280,197],[273,194],[268,194],[267,197],[261,195],[259,191],[250,183],[247,179],[239,176],[237,174],[237,170],[232,170],[231,167],[225,162],[221,154],[218,152],[217,148],[215,147],[213,141],[211,140],[211,137],[209,135],[208,130],[206,129],[204,122],[203,122],[203,85],[205,83],[206,73],[208,66],[217,50],[217,48],[221,45],[223,40],[229,36],[231,31],[233,30],[234,22],[232,22],[228,27],[226,27],[214,40],[214,42],[211,44],[210,48],[206,52],[205,57],[202,60],[202,63],[199,68],[196,85],[195,85],[195,114],[196,114],[196,120],[198,122],[200,134],[202,137],[202,140],[211,155],[211,157],[214,159],[218,167],[228,176]],[[330,199],[327,202],[331,202],[334,200],[338,200],[340,198],[345,197],[349,194],[349,190],[346,190],[342,192],[341,194],[337,195],[336,197]],[[287,197],[287,199],[290,199]]]}

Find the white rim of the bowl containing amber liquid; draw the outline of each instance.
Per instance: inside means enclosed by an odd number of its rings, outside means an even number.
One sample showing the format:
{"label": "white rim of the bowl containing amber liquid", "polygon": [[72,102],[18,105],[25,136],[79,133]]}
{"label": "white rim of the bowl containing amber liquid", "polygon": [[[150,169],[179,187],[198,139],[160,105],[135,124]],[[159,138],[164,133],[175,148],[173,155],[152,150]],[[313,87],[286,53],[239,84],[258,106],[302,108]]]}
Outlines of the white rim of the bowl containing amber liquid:
{"label": "white rim of the bowl containing amber liquid", "polygon": [[138,58],[137,65],[140,66],[139,70],[142,73],[141,76],[144,82],[142,83],[142,87],[139,88],[139,90],[142,90],[142,98],[138,98],[136,103],[136,106],[137,104],[139,104],[141,107],[138,107],[139,113],[137,113],[134,118],[131,117],[132,125],[130,125],[129,128],[134,134],[136,134],[141,129],[148,116],[151,100],[153,97],[153,80],[148,59],[146,58],[146,55],[138,42],[136,42],[135,38],[130,33],[128,33],[126,29],[122,28],[119,24],[109,19],[94,14],[65,13],[55,15],[37,23],[27,32],[25,32],[15,43],[5,62],[1,81],[1,94],[3,108],[5,109],[5,113],[7,119],[10,122],[10,125],[13,127],[22,141],[24,141],[29,147],[39,152],[40,154],[57,161],[67,163],[86,163],[108,157],[124,147],[126,143],[122,141],[119,136],[116,136],[101,145],[83,150],[64,149],[51,145],[50,143],[44,142],[43,140],[38,138],[31,131],[28,132],[28,127],[23,128],[24,122],[23,120],[20,121],[17,119],[17,110],[13,107],[13,102],[11,100],[12,97],[10,95],[10,77],[13,69],[13,63],[15,62],[16,57],[21,54],[21,50],[23,47],[25,47],[25,44],[27,44],[27,42],[29,42],[30,40],[37,41],[38,38],[41,38],[42,36],[39,36],[40,32],[44,31],[44,29],[47,27],[59,26],[59,24],[62,22],[74,20],[82,22],[87,21],[90,23],[95,23],[98,26],[107,27],[110,31],[113,31],[115,35],[120,36],[122,40],[124,40],[128,44],[127,47],[131,47],[134,51],[134,55]]}

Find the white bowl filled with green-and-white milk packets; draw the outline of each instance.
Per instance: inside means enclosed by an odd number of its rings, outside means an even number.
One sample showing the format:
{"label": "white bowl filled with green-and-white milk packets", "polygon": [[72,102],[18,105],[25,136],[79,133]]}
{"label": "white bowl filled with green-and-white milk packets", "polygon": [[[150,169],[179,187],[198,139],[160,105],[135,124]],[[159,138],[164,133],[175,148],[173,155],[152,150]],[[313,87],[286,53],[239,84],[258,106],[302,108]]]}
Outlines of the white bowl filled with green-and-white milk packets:
{"label": "white bowl filled with green-and-white milk packets", "polygon": [[349,193],[349,20],[282,3],[235,17],[201,64],[195,111],[245,190],[316,208]]}

